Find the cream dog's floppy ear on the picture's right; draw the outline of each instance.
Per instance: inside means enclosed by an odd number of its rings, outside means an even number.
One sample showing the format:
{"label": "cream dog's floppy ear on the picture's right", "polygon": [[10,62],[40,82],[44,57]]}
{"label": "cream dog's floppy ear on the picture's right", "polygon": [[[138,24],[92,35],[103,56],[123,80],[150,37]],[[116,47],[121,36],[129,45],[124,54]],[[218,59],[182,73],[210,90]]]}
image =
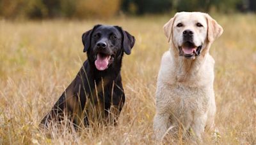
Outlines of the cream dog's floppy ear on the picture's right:
{"label": "cream dog's floppy ear on the picture's right", "polygon": [[221,36],[223,29],[210,15],[205,15],[208,24],[208,41],[213,42],[215,39]]}

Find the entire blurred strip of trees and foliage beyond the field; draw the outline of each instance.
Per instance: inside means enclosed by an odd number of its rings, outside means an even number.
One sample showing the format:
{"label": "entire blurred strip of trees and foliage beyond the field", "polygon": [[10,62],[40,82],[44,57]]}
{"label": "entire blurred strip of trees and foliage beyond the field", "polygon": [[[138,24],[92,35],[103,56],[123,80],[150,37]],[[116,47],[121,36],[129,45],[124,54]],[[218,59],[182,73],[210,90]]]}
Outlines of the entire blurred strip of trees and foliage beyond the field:
{"label": "entire blurred strip of trees and foliage beyond the field", "polygon": [[255,0],[0,0],[1,18],[110,18],[170,11],[256,11]]}

